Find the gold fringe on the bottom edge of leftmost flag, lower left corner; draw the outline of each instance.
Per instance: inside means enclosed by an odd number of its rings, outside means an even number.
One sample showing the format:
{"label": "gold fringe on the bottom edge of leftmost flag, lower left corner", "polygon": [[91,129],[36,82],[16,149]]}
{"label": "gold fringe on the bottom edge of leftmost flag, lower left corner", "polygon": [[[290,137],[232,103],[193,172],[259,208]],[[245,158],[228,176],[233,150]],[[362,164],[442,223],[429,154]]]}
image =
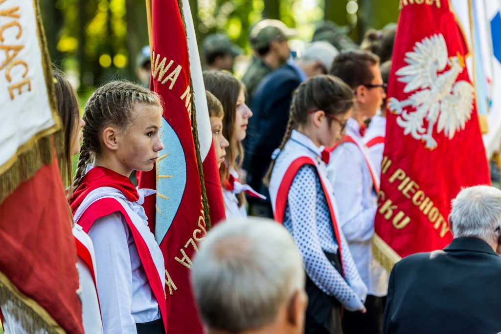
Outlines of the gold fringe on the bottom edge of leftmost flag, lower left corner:
{"label": "gold fringe on the bottom edge of leftmost flag, lower left corner", "polygon": [[0,272],[0,305],[4,313],[9,313],[21,323],[28,333],[64,333],[64,329],[34,299],[28,297]]}

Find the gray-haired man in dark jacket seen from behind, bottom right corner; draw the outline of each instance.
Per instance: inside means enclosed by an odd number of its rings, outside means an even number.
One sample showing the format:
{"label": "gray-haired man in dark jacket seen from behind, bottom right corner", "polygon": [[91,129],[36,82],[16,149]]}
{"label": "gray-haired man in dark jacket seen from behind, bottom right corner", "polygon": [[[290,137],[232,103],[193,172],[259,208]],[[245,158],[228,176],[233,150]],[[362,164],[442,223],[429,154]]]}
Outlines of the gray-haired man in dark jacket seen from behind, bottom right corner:
{"label": "gray-haired man in dark jacket seen from behind, bottom right corner", "polygon": [[454,239],[447,247],[393,267],[384,333],[501,332],[501,190],[462,189],[449,225]]}

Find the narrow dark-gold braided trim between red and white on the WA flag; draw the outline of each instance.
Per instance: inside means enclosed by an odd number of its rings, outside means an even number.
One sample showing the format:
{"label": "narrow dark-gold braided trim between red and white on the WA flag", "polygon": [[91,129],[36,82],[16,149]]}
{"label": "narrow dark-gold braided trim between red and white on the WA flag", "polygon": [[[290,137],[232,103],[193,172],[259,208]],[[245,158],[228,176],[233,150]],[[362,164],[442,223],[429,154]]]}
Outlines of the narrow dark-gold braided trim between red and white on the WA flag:
{"label": "narrow dark-gold braided trim between red and white on the WA flag", "polygon": [[[184,33],[186,35],[186,44],[187,44],[187,32],[186,32],[186,22],[184,21],[184,13],[183,13],[183,0],[177,0],[177,5],[179,6],[179,12],[181,13],[181,20],[183,21]],[[189,65],[189,55],[188,55],[188,65]],[[189,66],[188,66],[189,68]],[[191,71],[189,74],[189,87],[191,91],[191,132],[193,133],[193,142],[195,144],[195,153],[196,153],[196,162],[198,164],[198,173],[200,174],[200,185],[202,189],[202,205],[203,205],[203,214],[205,219],[205,228],[206,230],[210,230],[211,222],[209,215],[209,202],[207,200],[207,191],[205,189],[205,179],[203,176],[203,165],[202,158],[200,156],[200,141],[198,140],[198,129],[196,124],[196,107],[195,107],[195,94],[193,93],[193,80],[191,79]]]}

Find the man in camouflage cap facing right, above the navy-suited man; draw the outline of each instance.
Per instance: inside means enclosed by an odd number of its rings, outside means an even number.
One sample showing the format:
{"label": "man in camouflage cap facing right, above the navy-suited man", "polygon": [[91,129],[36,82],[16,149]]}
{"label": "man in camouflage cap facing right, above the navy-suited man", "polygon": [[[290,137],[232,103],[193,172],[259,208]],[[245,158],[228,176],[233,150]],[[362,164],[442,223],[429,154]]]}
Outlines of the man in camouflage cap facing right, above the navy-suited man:
{"label": "man in camouflage cap facing right, above the navy-suited man", "polygon": [[255,57],[242,77],[249,100],[261,80],[289,58],[291,50],[287,41],[293,35],[295,30],[277,19],[262,20],[250,31]]}

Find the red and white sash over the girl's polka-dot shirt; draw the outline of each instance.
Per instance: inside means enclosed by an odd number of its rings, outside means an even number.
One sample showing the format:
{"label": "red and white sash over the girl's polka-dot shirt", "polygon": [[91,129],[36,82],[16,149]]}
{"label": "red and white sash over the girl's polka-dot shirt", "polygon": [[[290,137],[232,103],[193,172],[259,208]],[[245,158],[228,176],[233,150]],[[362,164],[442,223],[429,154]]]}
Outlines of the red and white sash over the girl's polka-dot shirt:
{"label": "red and white sash over the girl's polka-dot shirt", "polygon": [[284,213],[287,205],[287,195],[289,193],[292,181],[294,180],[294,177],[296,176],[299,168],[306,164],[315,166],[320,178],[320,182],[322,184],[322,189],[324,190],[325,198],[327,200],[327,205],[329,207],[329,212],[332,218],[334,235],[339,247],[341,263],[343,263],[341,237],[337,224],[337,206],[336,201],[333,198],[334,192],[332,190],[332,185],[327,179],[325,164],[322,162],[320,156],[315,155],[308,149],[304,149],[304,147],[291,140],[287,142],[280,155],[281,156],[275,162],[269,186],[270,199],[272,202],[275,220],[279,223],[284,222]]}

